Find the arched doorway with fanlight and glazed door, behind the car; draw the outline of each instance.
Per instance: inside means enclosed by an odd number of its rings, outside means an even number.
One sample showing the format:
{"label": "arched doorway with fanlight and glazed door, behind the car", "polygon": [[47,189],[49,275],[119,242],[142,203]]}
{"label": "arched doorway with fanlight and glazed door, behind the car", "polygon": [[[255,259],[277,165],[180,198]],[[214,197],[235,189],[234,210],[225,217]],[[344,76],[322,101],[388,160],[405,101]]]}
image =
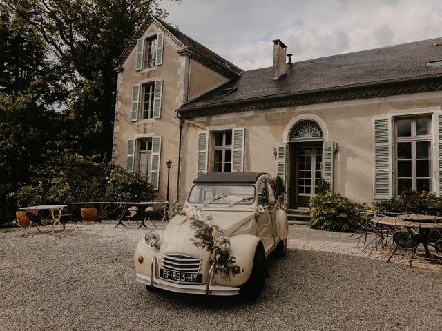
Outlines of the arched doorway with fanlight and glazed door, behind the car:
{"label": "arched doorway with fanlight and glazed door, behind the car", "polygon": [[316,121],[295,123],[289,133],[289,208],[308,208],[323,165],[323,130]]}

